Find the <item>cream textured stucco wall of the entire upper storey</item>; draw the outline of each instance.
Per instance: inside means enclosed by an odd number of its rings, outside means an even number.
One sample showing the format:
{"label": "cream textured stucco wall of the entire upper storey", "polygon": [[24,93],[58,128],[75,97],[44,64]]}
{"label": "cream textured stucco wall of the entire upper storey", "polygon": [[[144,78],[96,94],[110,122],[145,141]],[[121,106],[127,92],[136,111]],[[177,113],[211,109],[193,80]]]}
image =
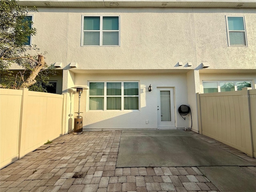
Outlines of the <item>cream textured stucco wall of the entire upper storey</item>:
{"label": "cream textured stucco wall of the entire upper storey", "polygon": [[[39,8],[32,44],[69,69],[255,69],[256,9]],[[120,46],[81,46],[82,16],[120,16]],[[226,16],[244,16],[248,46],[228,46]],[[177,66],[183,62],[183,66]],[[185,64],[191,62],[192,66]],[[65,67],[66,66],[66,67]]]}

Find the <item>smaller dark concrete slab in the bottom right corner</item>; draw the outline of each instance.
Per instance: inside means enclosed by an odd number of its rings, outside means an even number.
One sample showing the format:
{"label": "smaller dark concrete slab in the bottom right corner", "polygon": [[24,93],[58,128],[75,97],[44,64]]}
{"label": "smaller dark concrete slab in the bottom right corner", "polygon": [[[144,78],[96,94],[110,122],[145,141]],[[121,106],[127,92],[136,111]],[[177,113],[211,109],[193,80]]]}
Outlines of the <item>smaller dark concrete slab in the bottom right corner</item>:
{"label": "smaller dark concrete slab in the bottom right corner", "polygon": [[[239,166],[198,167],[220,192],[255,192],[256,172]],[[238,174],[239,173],[239,174]]]}

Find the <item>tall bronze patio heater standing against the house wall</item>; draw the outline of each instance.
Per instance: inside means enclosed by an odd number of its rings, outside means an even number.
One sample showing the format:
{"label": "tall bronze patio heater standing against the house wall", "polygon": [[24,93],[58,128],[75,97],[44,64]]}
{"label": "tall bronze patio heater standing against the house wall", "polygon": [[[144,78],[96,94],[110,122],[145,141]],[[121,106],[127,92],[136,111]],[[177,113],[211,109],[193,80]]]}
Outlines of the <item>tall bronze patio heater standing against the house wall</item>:
{"label": "tall bronze patio heater standing against the house wall", "polygon": [[86,90],[88,88],[85,88],[85,87],[80,87],[80,86],[77,86],[77,87],[72,87],[74,89],[76,89],[76,92],[79,94],[78,98],[79,98],[79,101],[78,101],[78,112],[75,112],[78,114],[78,116],[76,116],[74,118],[74,132],[73,132],[73,135],[80,135],[83,133],[83,117],[80,116],[80,98],[81,98],[81,94],[83,92],[83,89]]}

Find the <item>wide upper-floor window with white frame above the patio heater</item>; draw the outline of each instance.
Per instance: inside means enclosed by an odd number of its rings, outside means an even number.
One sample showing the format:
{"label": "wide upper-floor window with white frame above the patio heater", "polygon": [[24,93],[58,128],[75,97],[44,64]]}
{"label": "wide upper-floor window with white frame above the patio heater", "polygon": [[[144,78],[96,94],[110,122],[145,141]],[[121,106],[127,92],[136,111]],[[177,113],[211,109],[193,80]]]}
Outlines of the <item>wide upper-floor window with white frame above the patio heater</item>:
{"label": "wide upper-floor window with white frame above the patio heater", "polygon": [[119,46],[119,16],[83,18],[83,46]]}

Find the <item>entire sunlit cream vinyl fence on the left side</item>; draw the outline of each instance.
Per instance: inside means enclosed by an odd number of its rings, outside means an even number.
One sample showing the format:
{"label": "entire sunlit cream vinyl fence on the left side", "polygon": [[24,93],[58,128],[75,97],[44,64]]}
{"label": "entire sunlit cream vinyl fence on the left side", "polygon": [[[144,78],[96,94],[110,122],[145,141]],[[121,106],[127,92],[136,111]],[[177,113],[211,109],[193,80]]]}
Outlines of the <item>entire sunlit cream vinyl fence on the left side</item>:
{"label": "entire sunlit cream vinyl fence on the left side", "polygon": [[62,136],[66,95],[0,89],[0,168]]}

